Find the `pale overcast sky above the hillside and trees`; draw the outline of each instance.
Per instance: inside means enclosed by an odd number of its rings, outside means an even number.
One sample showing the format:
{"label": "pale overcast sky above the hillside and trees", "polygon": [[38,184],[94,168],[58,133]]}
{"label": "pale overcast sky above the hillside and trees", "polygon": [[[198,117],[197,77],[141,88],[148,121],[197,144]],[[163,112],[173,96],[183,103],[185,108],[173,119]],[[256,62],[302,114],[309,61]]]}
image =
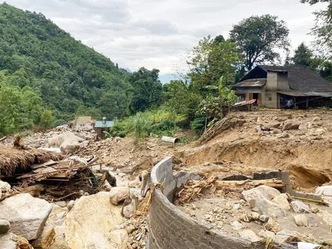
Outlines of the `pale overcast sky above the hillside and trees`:
{"label": "pale overcast sky above the hillside and trees", "polygon": [[7,0],[42,12],[60,28],[98,52],[136,71],[160,74],[184,68],[186,51],[204,36],[228,37],[232,24],[251,15],[278,15],[291,30],[293,48],[308,45],[314,25],[309,6],[299,0]]}

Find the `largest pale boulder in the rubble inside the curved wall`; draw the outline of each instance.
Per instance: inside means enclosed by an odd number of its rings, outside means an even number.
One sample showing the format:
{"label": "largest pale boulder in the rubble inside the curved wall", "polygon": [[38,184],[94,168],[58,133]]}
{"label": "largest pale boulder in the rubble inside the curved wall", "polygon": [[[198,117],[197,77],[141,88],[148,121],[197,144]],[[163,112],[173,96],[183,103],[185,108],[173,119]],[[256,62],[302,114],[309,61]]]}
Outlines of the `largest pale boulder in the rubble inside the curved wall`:
{"label": "largest pale boulder in the rubble inside the curved wall", "polygon": [[280,192],[273,187],[261,185],[242,192],[243,199],[248,201],[250,207],[259,214],[266,216],[286,216],[286,211],[270,201],[280,195]]}

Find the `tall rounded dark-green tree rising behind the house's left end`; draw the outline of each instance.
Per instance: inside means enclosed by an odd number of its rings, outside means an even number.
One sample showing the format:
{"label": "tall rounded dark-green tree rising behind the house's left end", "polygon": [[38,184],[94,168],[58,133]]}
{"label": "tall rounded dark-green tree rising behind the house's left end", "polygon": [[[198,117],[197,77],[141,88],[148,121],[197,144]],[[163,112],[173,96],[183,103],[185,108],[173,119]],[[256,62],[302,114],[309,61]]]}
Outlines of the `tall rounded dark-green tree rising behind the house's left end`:
{"label": "tall rounded dark-green tree rising behind the house's left end", "polygon": [[246,67],[252,69],[254,64],[274,63],[280,55],[276,48],[288,51],[289,30],[285,21],[278,21],[272,15],[252,16],[234,25],[230,39],[237,43],[245,56]]}

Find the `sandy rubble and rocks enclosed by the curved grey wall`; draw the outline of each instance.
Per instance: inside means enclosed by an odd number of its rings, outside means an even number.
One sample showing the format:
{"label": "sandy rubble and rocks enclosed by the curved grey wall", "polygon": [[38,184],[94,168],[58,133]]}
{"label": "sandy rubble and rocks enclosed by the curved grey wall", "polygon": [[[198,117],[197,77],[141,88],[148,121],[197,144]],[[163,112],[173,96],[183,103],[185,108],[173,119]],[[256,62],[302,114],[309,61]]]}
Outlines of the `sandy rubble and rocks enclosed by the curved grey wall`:
{"label": "sandy rubble and rocks enclosed by the curved grey wall", "polygon": [[248,188],[243,184],[241,194],[238,194],[238,185],[236,194],[229,195],[234,191],[232,187],[225,185],[218,190],[211,181],[206,180],[206,183],[209,187],[203,190],[200,189],[202,184],[187,185],[185,192],[192,185],[194,189],[198,188],[199,195],[185,199],[180,192],[178,208],[222,232],[252,242],[293,245],[310,242],[332,247],[331,185],[317,187],[316,193],[322,194],[322,201],[315,201],[282,194],[268,185]]}

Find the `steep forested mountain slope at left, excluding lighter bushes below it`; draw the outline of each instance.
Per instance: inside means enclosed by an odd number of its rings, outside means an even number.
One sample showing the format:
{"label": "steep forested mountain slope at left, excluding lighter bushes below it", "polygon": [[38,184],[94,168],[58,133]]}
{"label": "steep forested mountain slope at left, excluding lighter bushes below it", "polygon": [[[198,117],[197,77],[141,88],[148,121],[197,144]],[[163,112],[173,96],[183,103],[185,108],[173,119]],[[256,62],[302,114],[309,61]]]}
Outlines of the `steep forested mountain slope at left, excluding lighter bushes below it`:
{"label": "steep forested mountain slope at left, excluding lighter bushes below it", "polygon": [[0,4],[0,86],[30,86],[56,119],[122,116],[129,77],[44,15]]}

